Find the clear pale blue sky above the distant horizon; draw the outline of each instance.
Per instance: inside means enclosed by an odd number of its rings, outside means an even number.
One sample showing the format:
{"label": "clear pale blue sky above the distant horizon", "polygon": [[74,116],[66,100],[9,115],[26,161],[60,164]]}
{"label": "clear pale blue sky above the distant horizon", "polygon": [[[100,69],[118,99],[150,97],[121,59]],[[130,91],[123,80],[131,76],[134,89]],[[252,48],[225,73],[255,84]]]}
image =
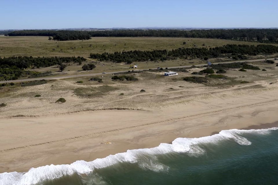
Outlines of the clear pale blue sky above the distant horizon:
{"label": "clear pale blue sky above the distant horizon", "polygon": [[0,29],[278,27],[278,0],[0,0]]}

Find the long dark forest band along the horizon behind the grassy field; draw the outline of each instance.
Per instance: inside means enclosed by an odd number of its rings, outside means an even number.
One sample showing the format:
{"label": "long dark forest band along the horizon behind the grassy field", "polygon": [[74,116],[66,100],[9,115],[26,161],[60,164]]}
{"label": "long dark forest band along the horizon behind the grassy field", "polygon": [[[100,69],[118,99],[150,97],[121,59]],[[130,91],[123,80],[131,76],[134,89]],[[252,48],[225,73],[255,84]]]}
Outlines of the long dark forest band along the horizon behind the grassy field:
{"label": "long dark forest band along the horizon behind the grassy field", "polygon": [[90,37],[185,37],[278,42],[278,29],[123,29],[106,31],[21,30],[9,36],[50,36],[54,40],[86,40]]}

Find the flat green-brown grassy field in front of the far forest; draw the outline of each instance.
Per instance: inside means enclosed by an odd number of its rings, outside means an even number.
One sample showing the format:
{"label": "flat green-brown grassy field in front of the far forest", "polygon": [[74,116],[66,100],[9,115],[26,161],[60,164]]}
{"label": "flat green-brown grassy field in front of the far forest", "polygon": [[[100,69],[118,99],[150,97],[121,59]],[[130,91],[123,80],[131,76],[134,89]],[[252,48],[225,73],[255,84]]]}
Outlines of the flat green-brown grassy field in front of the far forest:
{"label": "flat green-brown grassy field in front of the far forest", "polygon": [[[93,37],[90,40],[54,41],[45,36],[0,36],[0,57],[9,56],[83,56],[129,50],[177,49],[179,47],[216,47],[225,44],[258,45],[206,38]],[[183,45],[183,42],[186,42]]]}

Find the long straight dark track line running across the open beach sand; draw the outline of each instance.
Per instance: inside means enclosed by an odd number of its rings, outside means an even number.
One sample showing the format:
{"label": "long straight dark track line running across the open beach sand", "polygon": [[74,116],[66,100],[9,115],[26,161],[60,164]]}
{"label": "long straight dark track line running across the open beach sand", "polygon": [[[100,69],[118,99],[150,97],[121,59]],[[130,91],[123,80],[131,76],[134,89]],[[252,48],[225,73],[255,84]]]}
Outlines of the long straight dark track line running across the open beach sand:
{"label": "long straight dark track line running across the open beach sand", "polygon": [[162,121],[145,123],[145,124],[141,124],[141,125],[122,127],[122,128],[118,128],[118,129],[111,129],[111,130],[106,130],[106,131],[101,131],[101,132],[94,132],[94,133],[85,134],[85,135],[81,135],[81,136],[74,136],[74,137],[70,137],[70,138],[46,141],[46,142],[43,142],[43,143],[36,143],[36,144],[32,144],[32,145],[25,145],[25,146],[21,146],[21,147],[3,149],[3,150],[0,150],[0,152],[6,152],[6,151],[11,151],[11,150],[16,150],[16,149],[23,149],[23,148],[27,148],[27,147],[34,147],[34,146],[39,146],[39,145],[44,145],[44,144],[57,143],[57,142],[61,142],[61,141],[77,140],[77,139],[82,139],[82,138],[86,138],[86,137],[96,138],[96,137],[101,136],[103,134],[110,134],[112,132],[119,132],[121,130],[127,130],[127,129],[137,128],[137,127],[144,127],[144,126],[147,126],[147,125],[154,125],[154,124],[164,123],[164,122],[169,122],[169,121],[178,121],[178,120],[191,118],[191,117],[195,117],[195,116],[202,116],[202,115],[206,115],[206,114],[218,113],[218,112],[233,110],[233,109],[238,109],[238,108],[263,105],[263,104],[273,103],[275,101],[278,101],[278,99],[272,99],[272,100],[269,100],[269,101],[252,103],[252,104],[248,104],[248,105],[236,106],[236,107],[231,107],[231,108],[226,108],[226,109],[221,109],[221,110],[209,111],[209,112],[204,112],[204,113],[200,113],[200,114],[193,114],[193,115],[183,116],[183,117],[179,117],[179,118],[166,119],[166,120],[162,120]]}

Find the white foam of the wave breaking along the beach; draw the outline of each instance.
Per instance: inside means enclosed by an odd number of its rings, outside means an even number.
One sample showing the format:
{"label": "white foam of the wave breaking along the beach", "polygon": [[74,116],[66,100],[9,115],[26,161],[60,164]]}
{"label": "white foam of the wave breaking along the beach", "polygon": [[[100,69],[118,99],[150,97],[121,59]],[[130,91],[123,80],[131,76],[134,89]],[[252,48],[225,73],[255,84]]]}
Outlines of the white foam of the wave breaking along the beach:
{"label": "white foam of the wave breaking along the beach", "polygon": [[[251,142],[240,136],[245,133],[251,134],[268,134],[271,130],[278,128],[258,129],[258,130],[222,130],[219,134],[201,138],[177,138],[172,144],[161,143],[158,147],[128,150],[125,153],[109,155],[106,158],[96,159],[92,162],[83,160],[76,161],[72,164],[47,165],[38,168],[31,168],[26,173],[1,173],[0,185],[32,185],[38,184],[43,180],[57,179],[64,175],[89,174],[95,168],[104,168],[119,162],[138,163],[138,166],[156,172],[168,171],[169,167],[156,162],[155,155],[164,153],[186,153],[189,156],[200,156],[206,151],[199,145],[206,143],[217,144],[221,140],[233,140],[239,145],[251,145]],[[99,177],[98,177],[99,178]],[[102,183],[102,181],[100,181]]]}

